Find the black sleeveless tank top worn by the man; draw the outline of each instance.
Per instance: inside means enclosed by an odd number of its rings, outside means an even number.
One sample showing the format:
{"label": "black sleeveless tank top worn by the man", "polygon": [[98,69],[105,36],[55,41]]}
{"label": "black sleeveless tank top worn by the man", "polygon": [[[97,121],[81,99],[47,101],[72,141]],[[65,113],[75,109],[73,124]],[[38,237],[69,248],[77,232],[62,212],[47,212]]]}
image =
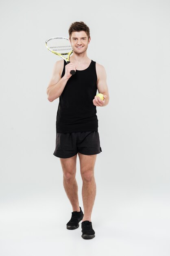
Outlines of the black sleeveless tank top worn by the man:
{"label": "black sleeveless tank top worn by the man", "polygon": [[[65,74],[65,65],[61,77]],[[91,61],[85,70],[76,70],[59,97],[56,131],[58,133],[98,131],[96,106],[96,62]]]}

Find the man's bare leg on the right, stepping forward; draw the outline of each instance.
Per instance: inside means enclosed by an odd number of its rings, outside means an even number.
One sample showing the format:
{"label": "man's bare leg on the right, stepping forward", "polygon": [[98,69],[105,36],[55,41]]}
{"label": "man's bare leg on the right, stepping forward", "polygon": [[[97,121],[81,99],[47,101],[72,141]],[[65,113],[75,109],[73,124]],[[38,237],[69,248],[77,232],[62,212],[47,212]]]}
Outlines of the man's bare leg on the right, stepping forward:
{"label": "man's bare leg on the right, stepping forward", "polygon": [[92,209],[96,197],[96,182],[94,179],[96,155],[83,155],[78,153],[78,157],[80,159],[81,177],[83,180],[82,197],[84,217],[82,221],[91,221]]}

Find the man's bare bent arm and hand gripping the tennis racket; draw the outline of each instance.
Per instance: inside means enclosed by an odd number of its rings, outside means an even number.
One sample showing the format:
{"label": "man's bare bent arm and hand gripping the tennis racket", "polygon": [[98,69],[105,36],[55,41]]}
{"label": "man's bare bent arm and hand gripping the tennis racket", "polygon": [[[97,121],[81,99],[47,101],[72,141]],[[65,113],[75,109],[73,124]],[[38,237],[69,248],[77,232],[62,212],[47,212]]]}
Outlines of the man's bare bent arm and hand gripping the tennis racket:
{"label": "man's bare bent arm and hand gripping the tennis racket", "polygon": [[68,79],[72,76],[70,74],[71,70],[75,70],[76,68],[72,63],[65,65],[65,75],[61,78],[61,74],[63,71],[63,61],[57,61],[54,65],[52,71],[52,78],[47,88],[47,95],[48,100],[50,102],[54,101],[55,99],[59,98],[61,93],[63,92],[65,85]]}

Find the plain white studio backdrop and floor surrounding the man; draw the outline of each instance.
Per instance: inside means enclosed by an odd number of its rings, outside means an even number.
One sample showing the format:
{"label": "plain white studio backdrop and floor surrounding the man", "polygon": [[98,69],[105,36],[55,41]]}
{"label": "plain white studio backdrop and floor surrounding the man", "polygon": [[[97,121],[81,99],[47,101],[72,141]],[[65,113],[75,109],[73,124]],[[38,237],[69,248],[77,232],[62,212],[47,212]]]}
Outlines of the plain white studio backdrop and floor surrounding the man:
{"label": "plain white studio backdrop and floor surrounding the man", "polygon": [[[46,95],[60,58],[45,41],[81,20],[110,93],[97,108],[92,240],[81,223],[66,229],[72,207],[53,155],[59,101]],[[0,31],[1,256],[168,256],[170,2],[1,0]],[[78,162],[76,177],[83,208]]]}

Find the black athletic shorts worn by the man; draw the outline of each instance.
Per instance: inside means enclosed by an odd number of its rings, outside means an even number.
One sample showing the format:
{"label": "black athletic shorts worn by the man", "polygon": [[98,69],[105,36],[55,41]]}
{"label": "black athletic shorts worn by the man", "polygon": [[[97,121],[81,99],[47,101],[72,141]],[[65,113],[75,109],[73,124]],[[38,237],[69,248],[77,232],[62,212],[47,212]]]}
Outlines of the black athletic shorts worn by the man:
{"label": "black athletic shorts worn by the man", "polygon": [[96,155],[102,151],[98,132],[57,133],[54,156],[73,157],[77,153]]}

